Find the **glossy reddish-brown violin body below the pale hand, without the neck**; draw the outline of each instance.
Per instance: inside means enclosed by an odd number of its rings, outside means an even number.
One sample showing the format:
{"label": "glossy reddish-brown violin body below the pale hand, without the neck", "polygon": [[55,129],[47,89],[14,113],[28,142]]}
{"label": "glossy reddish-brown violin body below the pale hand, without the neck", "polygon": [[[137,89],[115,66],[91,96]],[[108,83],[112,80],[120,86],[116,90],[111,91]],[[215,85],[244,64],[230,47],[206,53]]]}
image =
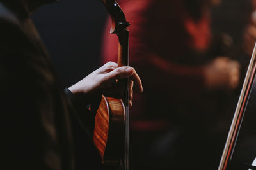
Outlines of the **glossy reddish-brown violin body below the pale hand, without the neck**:
{"label": "glossy reddish-brown violin body below the pale hand, without the neck", "polygon": [[119,166],[124,155],[125,106],[122,99],[102,96],[95,117],[93,143],[105,165]]}

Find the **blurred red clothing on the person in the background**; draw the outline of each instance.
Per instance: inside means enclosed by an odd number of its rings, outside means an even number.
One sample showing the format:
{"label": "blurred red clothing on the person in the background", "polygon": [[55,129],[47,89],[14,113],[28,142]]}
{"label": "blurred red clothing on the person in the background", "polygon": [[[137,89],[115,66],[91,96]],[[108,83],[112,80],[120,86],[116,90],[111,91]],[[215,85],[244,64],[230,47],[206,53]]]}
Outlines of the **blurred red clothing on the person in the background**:
{"label": "blurred red clothing on the person in the background", "polygon": [[[132,117],[142,113],[143,118],[154,120],[169,117],[168,107],[191,99],[204,88],[202,64],[209,59],[197,53],[204,53],[211,43],[209,15],[202,9],[202,17],[193,20],[183,1],[130,0],[119,4],[131,23],[130,65],[138,70],[145,89],[143,94],[135,94]],[[102,49],[104,62],[117,60],[118,38],[109,34],[110,24],[109,18]]]}

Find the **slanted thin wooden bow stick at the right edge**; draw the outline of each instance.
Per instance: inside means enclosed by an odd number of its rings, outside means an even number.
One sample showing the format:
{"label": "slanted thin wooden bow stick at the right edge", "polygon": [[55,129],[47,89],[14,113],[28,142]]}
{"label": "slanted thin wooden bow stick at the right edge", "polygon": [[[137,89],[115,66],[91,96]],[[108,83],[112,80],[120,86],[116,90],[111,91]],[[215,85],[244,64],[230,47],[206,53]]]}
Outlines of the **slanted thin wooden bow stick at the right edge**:
{"label": "slanted thin wooden bow stick at the right edge", "polygon": [[[220,165],[218,167],[218,170],[227,170],[228,166],[230,166],[232,154],[236,146],[237,137],[239,135],[239,131],[243,122],[246,105],[250,97],[250,92],[252,91],[253,81],[255,80],[255,74],[256,74],[255,55],[256,55],[256,43],[253,49],[250,64],[248,66],[246,77],[243,83],[243,88],[239,96],[236,111],[234,113],[234,118],[230,126],[230,131],[228,132],[227,141],[225,144],[225,148],[223,150],[223,154],[220,160]],[[250,165],[249,167],[252,169],[256,169],[256,167],[252,165]]]}

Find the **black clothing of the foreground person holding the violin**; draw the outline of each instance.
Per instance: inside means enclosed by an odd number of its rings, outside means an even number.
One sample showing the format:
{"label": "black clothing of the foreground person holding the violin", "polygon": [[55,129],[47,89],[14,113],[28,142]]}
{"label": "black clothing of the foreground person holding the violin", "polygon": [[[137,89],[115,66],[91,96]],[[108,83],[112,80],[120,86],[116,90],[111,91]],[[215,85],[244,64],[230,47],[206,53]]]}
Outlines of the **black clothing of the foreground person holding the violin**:
{"label": "black clothing of the foreground person holding the violin", "polygon": [[18,7],[0,1],[1,167],[100,169],[92,113],[65,96],[28,9]]}

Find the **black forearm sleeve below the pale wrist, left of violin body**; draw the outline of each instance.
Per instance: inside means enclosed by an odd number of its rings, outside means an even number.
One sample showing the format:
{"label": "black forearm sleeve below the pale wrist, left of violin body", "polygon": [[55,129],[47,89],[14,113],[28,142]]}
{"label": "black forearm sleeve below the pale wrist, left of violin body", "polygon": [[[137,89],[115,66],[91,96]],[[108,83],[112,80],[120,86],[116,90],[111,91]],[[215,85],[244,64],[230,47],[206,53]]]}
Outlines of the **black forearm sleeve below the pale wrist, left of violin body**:
{"label": "black forearm sleeve below the pale wrist, left of violin body", "polygon": [[73,128],[76,169],[86,169],[88,166],[93,167],[93,169],[102,169],[99,152],[93,145],[93,130],[97,110],[88,109],[88,104],[92,103],[90,100],[93,98],[73,94],[68,88],[65,88],[64,92],[74,109],[70,118]]}

